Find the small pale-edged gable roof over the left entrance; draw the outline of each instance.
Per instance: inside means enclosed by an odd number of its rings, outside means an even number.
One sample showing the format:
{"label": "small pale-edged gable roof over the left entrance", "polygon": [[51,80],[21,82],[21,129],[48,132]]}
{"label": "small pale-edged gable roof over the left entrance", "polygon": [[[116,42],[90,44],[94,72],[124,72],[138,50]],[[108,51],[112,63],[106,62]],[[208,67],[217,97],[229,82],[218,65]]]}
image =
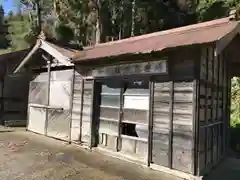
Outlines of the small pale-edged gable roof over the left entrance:
{"label": "small pale-edged gable roof over the left entrance", "polygon": [[51,56],[53,56],[57,61],[65,66],[73,66],[71,62],[71,57],[73,54],[77,53],[78,50],[62,47],[43,39],[38,39],[32,50],[25,56],[21,64],[15,69],[14,73],[18,72],[31,58],[31,56],[37,52],[38,49],[43,49]]}

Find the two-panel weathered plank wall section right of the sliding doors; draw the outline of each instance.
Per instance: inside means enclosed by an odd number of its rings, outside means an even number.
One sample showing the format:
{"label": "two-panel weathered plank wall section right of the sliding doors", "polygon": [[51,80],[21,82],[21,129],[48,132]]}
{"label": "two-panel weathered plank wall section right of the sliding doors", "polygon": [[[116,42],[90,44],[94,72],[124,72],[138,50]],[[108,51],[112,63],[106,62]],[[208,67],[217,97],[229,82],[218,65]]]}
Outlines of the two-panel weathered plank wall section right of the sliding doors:
{"label": "two-panel weathered plank wall section right of the sliding doors", "polygon": [[[171,84],[173,83],[173,97]],[[171,98],[173,103],[171,102]],[[193,82],[155,82],[153,98],[152,162],[191,172]],[[173,114],[171,114],[171,106]],[[172,129],[171,129],[171,116]],[[172,134],[172,142],[169,139]],[[172,162],[169,162],[172,149]]]}

